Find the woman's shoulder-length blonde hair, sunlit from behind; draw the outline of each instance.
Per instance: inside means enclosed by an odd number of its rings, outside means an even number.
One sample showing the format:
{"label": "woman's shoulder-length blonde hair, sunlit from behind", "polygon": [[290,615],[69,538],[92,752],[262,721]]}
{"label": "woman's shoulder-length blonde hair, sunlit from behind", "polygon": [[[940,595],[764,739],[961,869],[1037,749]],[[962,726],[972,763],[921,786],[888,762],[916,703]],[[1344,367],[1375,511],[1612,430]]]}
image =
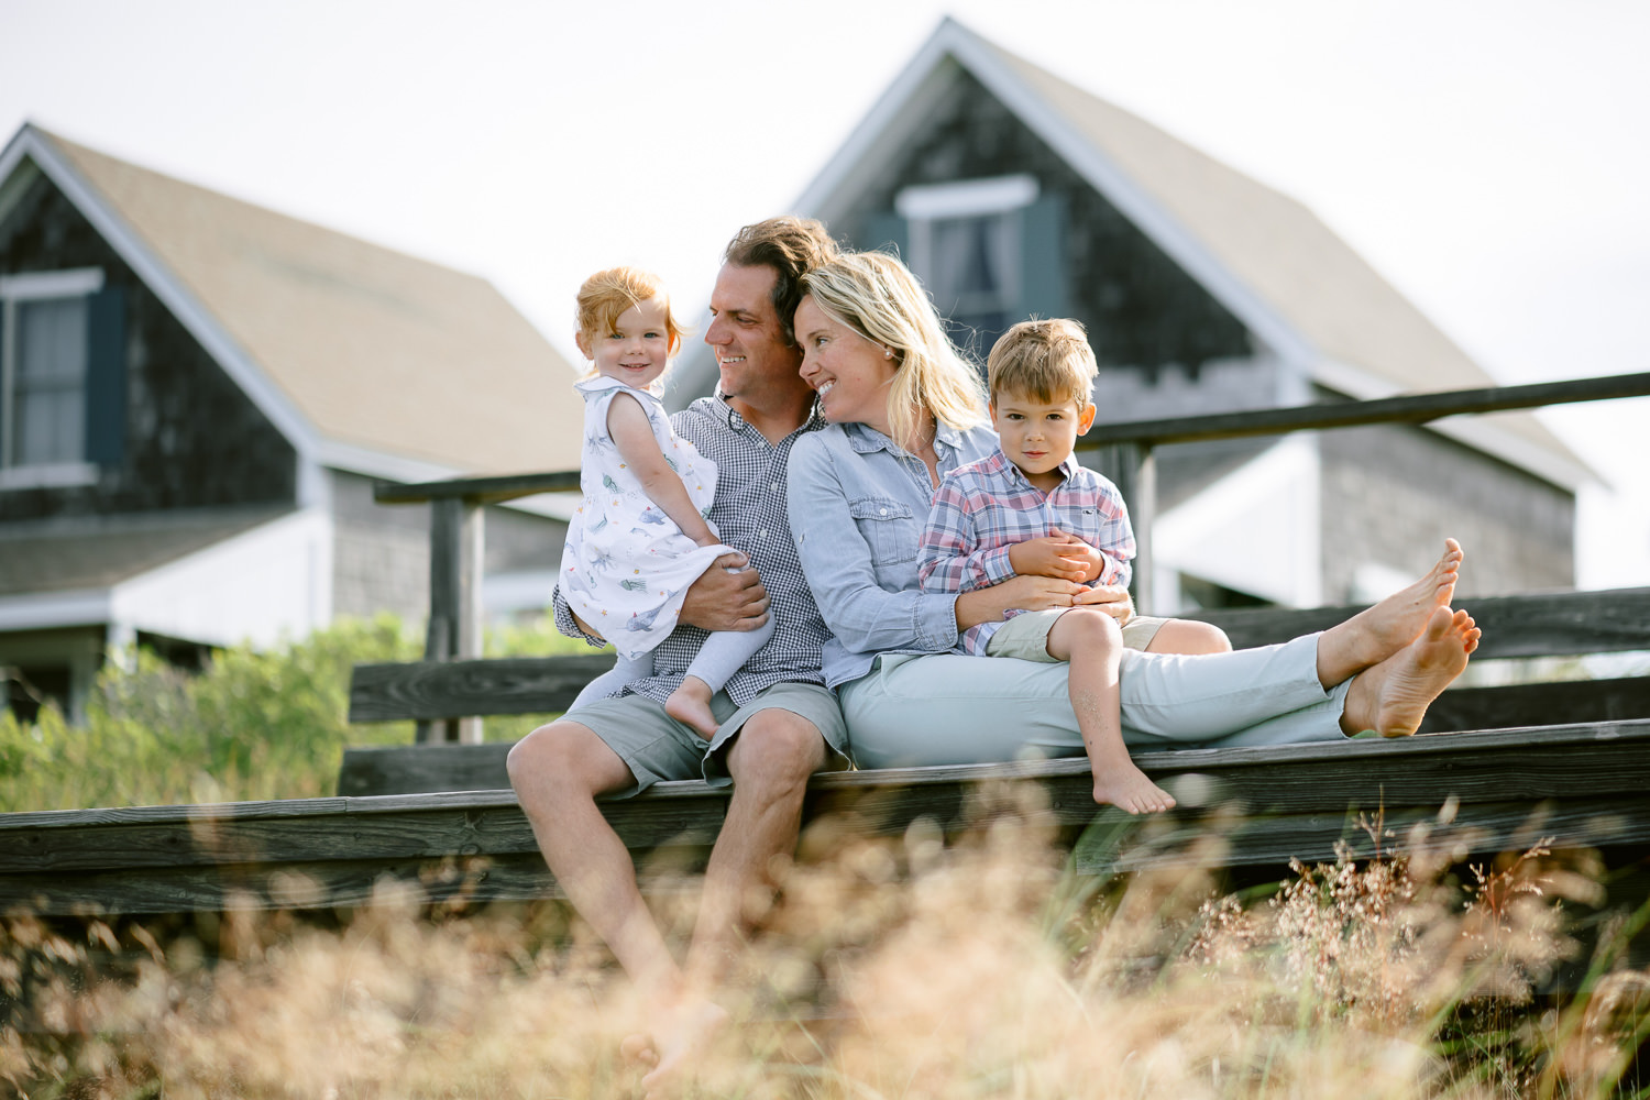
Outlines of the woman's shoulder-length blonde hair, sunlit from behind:
{"label": "woman's shoulder-length blonde hair, sunlit from behind", "polygon": [[802,285],[832,320],[893,351],[888,427],[916,450],[926,414],[947,427],[985,422],[980,374],[945,336],[917,277],[886,252],[843,252],[802,275]]}

